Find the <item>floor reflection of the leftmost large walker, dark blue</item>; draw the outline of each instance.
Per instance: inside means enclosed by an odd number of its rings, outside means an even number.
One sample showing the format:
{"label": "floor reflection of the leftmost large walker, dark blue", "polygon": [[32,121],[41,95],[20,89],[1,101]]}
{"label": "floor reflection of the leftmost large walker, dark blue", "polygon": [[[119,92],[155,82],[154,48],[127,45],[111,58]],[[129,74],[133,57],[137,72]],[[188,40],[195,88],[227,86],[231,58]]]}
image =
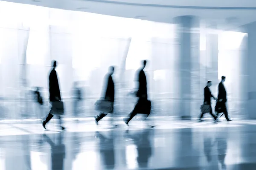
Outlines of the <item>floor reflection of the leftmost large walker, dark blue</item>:
{"label": "floor reflection of the leftmost large walker, dark blue", "polygon": [[58,133],[57,142],[54,143],[52,140],[44,134],[44,140],[51,146],[52,155],[52,169],[51,170],[64,170],[64,159],[65,159],[65,145],[63,142],[63,133]]}

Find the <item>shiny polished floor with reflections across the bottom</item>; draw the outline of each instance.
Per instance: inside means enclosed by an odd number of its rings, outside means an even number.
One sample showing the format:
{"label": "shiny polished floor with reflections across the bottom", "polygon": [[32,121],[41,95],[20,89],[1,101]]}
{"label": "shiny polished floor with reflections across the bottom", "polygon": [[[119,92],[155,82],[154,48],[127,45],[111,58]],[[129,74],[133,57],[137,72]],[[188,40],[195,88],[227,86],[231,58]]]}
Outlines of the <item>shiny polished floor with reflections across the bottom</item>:
{"label": "shiny polished floor with reflections across the bottom", "polygon": [[256,121],[0,122],[0,170],[256,170]]}

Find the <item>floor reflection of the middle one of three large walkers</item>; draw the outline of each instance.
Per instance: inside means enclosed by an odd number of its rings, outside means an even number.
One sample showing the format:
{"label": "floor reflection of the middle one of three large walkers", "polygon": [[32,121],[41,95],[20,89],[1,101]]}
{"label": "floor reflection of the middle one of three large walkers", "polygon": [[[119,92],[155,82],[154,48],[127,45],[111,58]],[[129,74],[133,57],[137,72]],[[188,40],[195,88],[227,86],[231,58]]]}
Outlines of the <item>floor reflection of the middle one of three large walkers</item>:
{"label": "floor reflection of the middle one of three large walkers", "polygon": [[99,131],[96,131],[96,137],[99,138],[99,150],[101,154],[102,163],[108,170],[115,168],[115,152],[114,152],[114,140],[113,134],[106,137]]}

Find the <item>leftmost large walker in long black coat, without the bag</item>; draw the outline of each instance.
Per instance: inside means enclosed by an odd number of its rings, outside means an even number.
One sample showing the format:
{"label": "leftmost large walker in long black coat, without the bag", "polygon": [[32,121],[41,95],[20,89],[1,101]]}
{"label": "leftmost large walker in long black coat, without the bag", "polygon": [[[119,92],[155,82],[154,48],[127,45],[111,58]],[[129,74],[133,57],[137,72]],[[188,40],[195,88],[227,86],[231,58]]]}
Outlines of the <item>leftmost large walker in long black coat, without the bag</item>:
{"label": "leftmost large walker in long black coat, without the bag", "polygon": [[[49,100],[51,105],[52,105],[52,102],[61,101],[61,92],[59,88],[57,72],[55,71],[56,66],[57,66],[57,62],[54,60],[52,62],[52,71],[49,75]],[[52,117],[53,117],[53,111],[50,110],[47,118],[43,121],[44,129],[46,129],[45,125],[52,119]],[[62,127],[61,125],[62,121],[61,121],[60,115],[58,115],[58,119],[59,119],[59,124],[61,129],[64,130],[65,128]]]}

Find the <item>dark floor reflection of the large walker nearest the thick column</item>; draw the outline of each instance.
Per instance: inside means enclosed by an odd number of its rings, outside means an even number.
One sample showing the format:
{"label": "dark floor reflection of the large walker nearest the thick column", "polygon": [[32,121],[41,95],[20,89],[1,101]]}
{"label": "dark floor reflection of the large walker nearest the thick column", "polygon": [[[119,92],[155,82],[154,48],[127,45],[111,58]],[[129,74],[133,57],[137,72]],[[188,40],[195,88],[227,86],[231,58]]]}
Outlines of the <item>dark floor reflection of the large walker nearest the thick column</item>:
{"label": "dark floor reflection of the large walker nearest the thick column", "polygon": [[150,142],[151,129],[145,129],[140,134],[131,135],[127,130],[127,135],[137,146],[137,162],[140,168],[148,168],[148,161],[152,155],[152,147]]}

